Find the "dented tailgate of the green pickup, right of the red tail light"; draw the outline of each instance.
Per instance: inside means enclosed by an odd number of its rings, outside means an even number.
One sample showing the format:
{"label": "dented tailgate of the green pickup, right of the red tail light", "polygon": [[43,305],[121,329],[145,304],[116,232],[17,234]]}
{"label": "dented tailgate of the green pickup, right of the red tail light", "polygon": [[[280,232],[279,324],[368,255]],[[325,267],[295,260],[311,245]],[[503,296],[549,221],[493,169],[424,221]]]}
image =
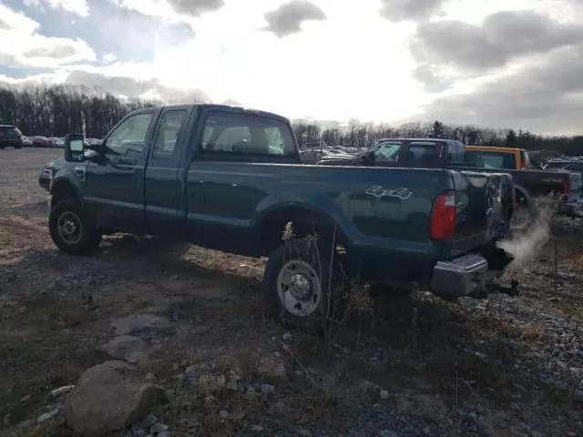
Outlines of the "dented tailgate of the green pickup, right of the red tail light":
{"label": "dented tailgate of the green pickup, right of the red tail light", "polygon": [[470,250],[504,236],[512,217],[512,177],[506,173],[453,171],[455,249]]}

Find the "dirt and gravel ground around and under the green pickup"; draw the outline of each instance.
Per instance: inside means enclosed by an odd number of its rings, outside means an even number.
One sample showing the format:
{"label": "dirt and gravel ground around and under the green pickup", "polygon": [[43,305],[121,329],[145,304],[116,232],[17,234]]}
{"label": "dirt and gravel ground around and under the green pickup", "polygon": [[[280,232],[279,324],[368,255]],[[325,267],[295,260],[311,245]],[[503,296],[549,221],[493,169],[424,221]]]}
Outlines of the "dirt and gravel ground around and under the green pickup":
{"label": "dirt and gravel ground around and under the green pickup", "polygon": [[36,178],[61,155],[0,150],[2,435],[72,435],[59,414],[36,423],[58,411],[47,393],[122,331],[148,345],[140,368],[167,391],[153,413],[172,436],[583,434],[580,222],[550,220],[506,272],[518,297],[385,296],[324,341],[266,320],[259,259],[128,236],[58,252]]}

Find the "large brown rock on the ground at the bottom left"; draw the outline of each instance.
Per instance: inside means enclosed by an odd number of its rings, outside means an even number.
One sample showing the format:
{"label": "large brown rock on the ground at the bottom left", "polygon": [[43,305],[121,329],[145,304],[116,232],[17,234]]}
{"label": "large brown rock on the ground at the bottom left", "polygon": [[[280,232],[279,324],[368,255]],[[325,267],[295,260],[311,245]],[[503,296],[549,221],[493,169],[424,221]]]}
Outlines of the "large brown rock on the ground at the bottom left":
{"label": "large brown rock on the ground at the bottom left", "polygon": [[137,381],[123,361],[106,361],[85,371],[66,397],[65,419],[73,431],[97,437],[121,430],[146,415],[159,389]]}

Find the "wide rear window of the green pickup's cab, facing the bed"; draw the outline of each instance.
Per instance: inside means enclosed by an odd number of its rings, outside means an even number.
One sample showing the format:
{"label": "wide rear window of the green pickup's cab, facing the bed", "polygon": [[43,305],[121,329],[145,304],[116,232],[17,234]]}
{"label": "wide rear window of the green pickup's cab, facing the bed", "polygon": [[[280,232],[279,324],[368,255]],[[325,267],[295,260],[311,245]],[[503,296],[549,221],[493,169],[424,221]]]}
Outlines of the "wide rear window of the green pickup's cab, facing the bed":
{"label": "wide rear window of the green pickup's cab, facing the bed", "polygon": [[202,152],[252,156],[296,156],[291,128],[267,117],[210,113],[204,127]]}

